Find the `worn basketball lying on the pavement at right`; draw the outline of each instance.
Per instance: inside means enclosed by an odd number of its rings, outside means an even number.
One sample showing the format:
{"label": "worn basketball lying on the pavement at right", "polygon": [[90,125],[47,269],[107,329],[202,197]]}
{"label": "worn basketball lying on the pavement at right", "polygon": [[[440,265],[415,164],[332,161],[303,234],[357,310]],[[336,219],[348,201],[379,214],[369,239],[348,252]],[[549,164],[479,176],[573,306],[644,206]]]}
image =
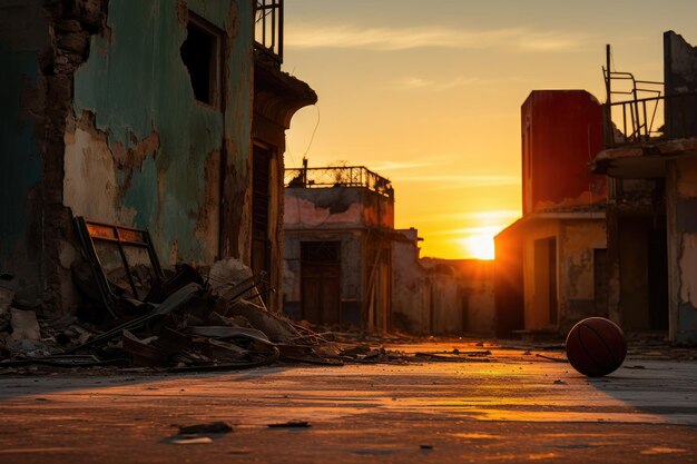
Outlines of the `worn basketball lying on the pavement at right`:
{"label": "worn basketball lying on the pavement at right", "polygon": [[571,366],[589,377],[615,372],[627,356],[622,329],[605,317],[589,317],[576,324],[569,330],[566,346]]}

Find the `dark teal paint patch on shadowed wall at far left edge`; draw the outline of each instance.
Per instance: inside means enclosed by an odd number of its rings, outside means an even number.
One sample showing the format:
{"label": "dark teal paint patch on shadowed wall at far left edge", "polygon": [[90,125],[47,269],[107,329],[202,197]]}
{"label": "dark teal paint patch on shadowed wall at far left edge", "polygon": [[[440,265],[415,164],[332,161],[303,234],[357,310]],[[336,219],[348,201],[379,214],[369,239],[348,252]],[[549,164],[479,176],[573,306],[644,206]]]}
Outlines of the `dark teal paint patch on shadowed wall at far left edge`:
{"label": "dark teal paint patch on shadowed wall at far left edge", "polygon": [[14,272],[13,261],[28,258],[30,223],[36,220],[29,198],[41,181],[37,128],[21,118],[22,88],[37,87],[37,52],[12,51],[0,42],[0,270]]}

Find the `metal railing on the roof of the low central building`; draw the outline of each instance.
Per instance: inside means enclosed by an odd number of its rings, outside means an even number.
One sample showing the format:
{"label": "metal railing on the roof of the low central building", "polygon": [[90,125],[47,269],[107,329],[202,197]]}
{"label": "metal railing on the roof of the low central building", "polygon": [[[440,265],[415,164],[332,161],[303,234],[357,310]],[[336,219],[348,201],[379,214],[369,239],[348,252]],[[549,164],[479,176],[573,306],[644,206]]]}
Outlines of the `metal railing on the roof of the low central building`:
{"label": "metal railing on the roof of the low central building", "polygon": [[394,198],[392,182],[364,166],[286,169],[287,188],[363,187],[386,198]]}

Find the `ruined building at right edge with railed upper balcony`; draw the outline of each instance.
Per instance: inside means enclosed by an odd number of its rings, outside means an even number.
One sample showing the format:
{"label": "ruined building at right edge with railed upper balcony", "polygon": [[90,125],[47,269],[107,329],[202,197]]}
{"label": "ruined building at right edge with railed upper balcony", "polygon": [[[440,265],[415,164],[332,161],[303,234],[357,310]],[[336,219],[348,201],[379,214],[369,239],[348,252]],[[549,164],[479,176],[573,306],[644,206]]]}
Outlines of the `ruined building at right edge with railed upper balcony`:
{"label": "ruined building at right edge with railed upper balcony", "polygon": [[[606,70],[611,136],[592,170],[610,179],[608,309],[697,344],[697,48],[668,31],[664,51],[665,85]],[[628,76],[632,97],[613,101]]]}

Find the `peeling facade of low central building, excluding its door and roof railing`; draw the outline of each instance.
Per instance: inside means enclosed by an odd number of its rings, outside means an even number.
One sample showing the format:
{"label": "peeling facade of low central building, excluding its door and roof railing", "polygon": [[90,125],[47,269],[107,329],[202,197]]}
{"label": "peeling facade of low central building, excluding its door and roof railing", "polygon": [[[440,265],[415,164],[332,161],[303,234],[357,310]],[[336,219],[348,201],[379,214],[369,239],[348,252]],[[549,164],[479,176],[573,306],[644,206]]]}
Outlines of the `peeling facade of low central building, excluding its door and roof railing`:
{"label": "peeling facade of low central building, excluding its door and roof railing", "polygon": [[[302,317],[301,244],[341,243],[341,320],[366,328],[389,325],[392,303],[392,199],[361,187],[286,188],[284,313]],[[390,249],[386,249],[390,248]]]}

